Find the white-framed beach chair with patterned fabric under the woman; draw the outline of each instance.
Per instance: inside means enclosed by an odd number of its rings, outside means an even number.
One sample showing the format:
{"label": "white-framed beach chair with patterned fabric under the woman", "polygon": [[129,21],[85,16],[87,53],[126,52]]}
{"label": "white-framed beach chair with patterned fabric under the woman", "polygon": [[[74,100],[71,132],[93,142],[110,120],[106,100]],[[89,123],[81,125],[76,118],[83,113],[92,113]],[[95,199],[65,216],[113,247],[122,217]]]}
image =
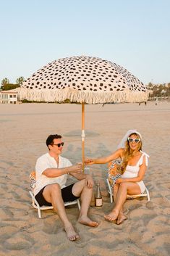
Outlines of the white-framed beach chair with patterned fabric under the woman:
{"label": "white-framed beach chair with patterned fabric under the woman", "polygon": [[[113,192],[112,192],[112,186],[111,183],[115,183],[116,179],[120,178],[121,175],[119,174],[119,167],[120,167],[120,161],[119,160],[113,160],[109,162],[108,164],[108,178],[106,178],[106,182],[109,187],[109,194],[110,194],[110,201],[113,202]],[[135,194],[135,195],[127,195],[127,199],[135,199],[137,197],[147,197],[148,202],[150,201],[150,194],[148,189],[145,186],[145,191],[142,194]]]}

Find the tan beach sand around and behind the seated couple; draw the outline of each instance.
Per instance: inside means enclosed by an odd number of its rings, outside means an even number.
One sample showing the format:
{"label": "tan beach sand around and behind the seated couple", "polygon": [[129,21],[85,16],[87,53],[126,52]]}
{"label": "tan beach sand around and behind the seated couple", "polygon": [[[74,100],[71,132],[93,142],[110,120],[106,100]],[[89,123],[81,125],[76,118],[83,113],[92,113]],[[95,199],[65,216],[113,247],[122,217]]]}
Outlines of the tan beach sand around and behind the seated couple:
{"label": "tan beach sand around and behind the seated couple", "polygon": [[170,255],[170,102],[85,105],[85,155],[100,157],[114,152],[127,130],[143,135],[143,151],[150,155],[146,198],[125,203],[128,219],[117,226],[104,220],[113,205],[106,185],[106,165],[90,172],[101,184],[103,207],[90,207],[100,224],[90,228],[77,223],[77,206],[67,214],[79,232],[79,241],[67,240],[58,215],[31,206],[29,174],[35,161],[47,152],[46,137],[63,135],[62,156],[81,162],[81,105],[0,104],[0,239],[1,256],[168,256]]}

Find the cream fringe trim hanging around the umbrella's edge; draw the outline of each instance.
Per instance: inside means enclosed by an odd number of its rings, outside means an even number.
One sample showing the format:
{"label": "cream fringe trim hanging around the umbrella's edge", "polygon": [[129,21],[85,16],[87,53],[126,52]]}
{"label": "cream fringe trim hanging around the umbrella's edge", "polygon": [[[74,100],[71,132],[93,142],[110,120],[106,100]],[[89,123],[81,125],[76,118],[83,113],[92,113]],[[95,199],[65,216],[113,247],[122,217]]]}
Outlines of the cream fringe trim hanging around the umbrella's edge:
{"label": "cream fringe trim hanging around the umbrella's edge", "polygon": [[60,90],[49,89],[26,89],[20,88],[20,100],[27,99],[35,102],[64,102],[69,99],[71,102],[85,102],[88,104],[97,103],[120,103],[120,102],[146,102],[148,93],[142,91],[77,91],[72,88]]}

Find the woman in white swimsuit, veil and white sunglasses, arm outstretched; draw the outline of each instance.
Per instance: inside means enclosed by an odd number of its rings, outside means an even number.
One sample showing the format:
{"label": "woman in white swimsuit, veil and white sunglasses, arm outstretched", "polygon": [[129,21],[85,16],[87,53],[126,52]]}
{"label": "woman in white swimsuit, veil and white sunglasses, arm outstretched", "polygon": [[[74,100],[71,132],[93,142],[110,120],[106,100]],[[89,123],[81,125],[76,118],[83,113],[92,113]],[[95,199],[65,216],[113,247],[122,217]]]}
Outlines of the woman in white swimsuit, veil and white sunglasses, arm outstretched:
{"label": "woman in white swimsuit, veil and white sunglasses, arm outstretched", "polygon": [[118,178],[114,184],[115,206],[109,215],[104,218],[109,221],[122,223],[127,217],[123,212],[123,205],[127,194],[141,194],[145,191],[143,177],[148,166],[148,154],[142,152],[142,136],[136,130],[129,130],[125,134],[118,149],[108,157],[88,159],[86,165],[105,164],[111,160],[121,159],[122,178]]}

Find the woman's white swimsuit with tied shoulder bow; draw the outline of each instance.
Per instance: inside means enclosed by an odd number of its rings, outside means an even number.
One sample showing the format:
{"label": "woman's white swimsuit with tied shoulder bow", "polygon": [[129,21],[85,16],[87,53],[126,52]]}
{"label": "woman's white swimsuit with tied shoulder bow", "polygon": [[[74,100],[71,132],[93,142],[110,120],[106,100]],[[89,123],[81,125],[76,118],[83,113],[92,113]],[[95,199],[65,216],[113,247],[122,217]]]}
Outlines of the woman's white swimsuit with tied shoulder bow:
{"label": "woman's white swimsuit with tied shoulder bow", "polygon": [[[145,155],[145,165],[148,166],[148,154],[145,152],[142,152],[140,159],[138,160],[136,165],[127,165],[127,168],[125,172],[122,174],[122,178],[135,178],[137,177],[139,170],[140,170],[140,165],[143,164],[143,157]],[[145,184],[143,181],[136,182],[140,186],[140,191],[143,193],[145,191]]]}

